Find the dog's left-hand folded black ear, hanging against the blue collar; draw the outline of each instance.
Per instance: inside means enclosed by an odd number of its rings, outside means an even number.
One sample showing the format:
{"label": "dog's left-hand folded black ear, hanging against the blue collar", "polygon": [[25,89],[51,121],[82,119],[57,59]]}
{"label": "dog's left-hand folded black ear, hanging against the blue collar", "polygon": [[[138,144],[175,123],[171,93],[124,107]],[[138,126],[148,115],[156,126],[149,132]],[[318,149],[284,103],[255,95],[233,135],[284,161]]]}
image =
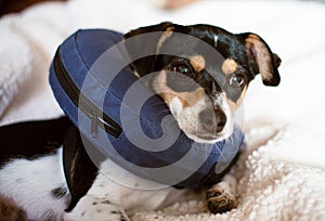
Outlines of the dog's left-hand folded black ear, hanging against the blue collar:
{"label": "dog's left-hand folded black ear, hanging against the blue collar", "polygon": [[[156,53],[158,52],[159,47],[161,47],[164,41],[168,37],[170,37],[172,29],[173,24],[165,22],[158,25],[141,27],[125,35],[123,39],[127,53],[129,55],[129,58],[132,61],[130,67],[140,76],[144,76],[153,72]],[[132,40],[132,37],[136,38],[133,38]],[[141,58],[138,58],[139,54],[142,55]]]}

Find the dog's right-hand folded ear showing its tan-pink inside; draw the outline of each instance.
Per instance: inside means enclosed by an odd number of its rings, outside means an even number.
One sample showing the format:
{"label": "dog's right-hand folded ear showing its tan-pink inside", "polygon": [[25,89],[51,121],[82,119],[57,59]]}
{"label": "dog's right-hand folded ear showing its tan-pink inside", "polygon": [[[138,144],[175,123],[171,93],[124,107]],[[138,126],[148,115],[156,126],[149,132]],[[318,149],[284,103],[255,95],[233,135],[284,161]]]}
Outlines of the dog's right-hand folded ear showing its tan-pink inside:
{"label": "dog's right-hand folded ear showing its tan-pink inside", "polygon": [[242,34],[248,57],[252,61],[255,74],[261,74],[265,86],[278,86],[281,77],[277,67],[281,58],[273,53],[266,42],[256,34]]}

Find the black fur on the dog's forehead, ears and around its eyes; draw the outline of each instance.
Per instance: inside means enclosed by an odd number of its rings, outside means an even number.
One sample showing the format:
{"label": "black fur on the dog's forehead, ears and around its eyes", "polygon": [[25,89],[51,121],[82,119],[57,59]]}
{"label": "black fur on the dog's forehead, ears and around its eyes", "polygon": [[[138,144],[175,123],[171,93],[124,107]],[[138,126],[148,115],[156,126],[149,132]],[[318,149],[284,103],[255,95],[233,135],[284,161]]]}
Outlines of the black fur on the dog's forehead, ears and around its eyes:
{"label": "black fur on the dog's forehead, ears and around its eyes", "polygon": [[[234,35],[223,28],[210,25],[199,24],[182,26],[171,23],[161,23],[159,25],[147,26],[130,31],[125,38],[128,39],[152,31],[166,31],[167,28],[172,29],[173,35],[166,39],[162,46],[159,46],[159,54],[142,57],[131,64],[132,69],[135,69],[141,76],[164,69],[173,72],[174,68],[170,67],[177,67],[174,66],[174,61],[178,58],[179,61],[183,61],[184,58],[190,60],[195,55],[200,55],[205,60],[204,69],[198,73],[193,73],[194,75],[187,77],[192,78],[196,83],[204,88],[207,95],[211,98],[213,94],[210,94],[209,91],[211,91],[211,81],[214,81],[214,84],[218,84],[221,90],[226,93],[227,99],[236,103],[240,99],[245,86],[248,86],[255,76],[259,74],[259,69],[257,68],[258,64],[256,64],[255,58],[249,55],[253,53],[248,53],[249,49],[262,47],[265,54],[260,53],[261,56],[271,57],[270,61],[268,60],[269,76],[266,73],[266,77],[272,78],[271,80],[263,79],[263,82],[264,84],[272,86],[277,86],[280,82],[280,76],[276,68],[278,67],[281,60],[277,55],[272,53],[260,37],[251,32]],[[194,38],[184,38],[183,35],[176,35],[177,32],[185,34]],[[249,41],[251,43],[251,46],[249,44],[250,47],[248,47],[247,39],[252,39],[251,42]],[[258,42],[257,46],[255,46],[253,42]],[[141,38],[136,43],[129,43],[126,48],[129,55],[132,57],[133,52],[143,49],[150,50],[151,53],[147,54],[154,54],[157,49],[157,43],[159,43],[159,35],[156,39]],[[208,44],[209,47],[207,47]],[[258,58],[263,61],[265,57]],[[226,76],[221,72],[222,64],[226,58],[231,58],[237,64],[238,68],[236,68],[236,72],[234,72],[233,75],[244,76],[245,84],[243,84],[243,87],[232,87],[230,84],[230,76]],[[191,67],[188,61],[181,65]],[[197,84],[194,83],[196,87],[193,87],[193,83],[191,84],[186,81],[186,79],[180,79],[168,75],[166,84],[174,92],[195,91]]]}

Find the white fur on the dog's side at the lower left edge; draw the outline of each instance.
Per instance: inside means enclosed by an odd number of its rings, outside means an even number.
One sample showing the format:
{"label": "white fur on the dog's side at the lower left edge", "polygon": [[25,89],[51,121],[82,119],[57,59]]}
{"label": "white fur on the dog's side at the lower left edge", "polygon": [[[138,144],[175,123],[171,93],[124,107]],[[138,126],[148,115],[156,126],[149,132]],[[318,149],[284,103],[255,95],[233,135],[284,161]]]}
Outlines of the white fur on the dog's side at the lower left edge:
{"label": "white fur on the dog's side at the lower left edge", "polygon": [[34,160],[15,159],[0,170],[1,196],[14,199],[31,220],[62,219],[68,198],[55,198],[51,193],[62,185],[66,187],[62,150]]}

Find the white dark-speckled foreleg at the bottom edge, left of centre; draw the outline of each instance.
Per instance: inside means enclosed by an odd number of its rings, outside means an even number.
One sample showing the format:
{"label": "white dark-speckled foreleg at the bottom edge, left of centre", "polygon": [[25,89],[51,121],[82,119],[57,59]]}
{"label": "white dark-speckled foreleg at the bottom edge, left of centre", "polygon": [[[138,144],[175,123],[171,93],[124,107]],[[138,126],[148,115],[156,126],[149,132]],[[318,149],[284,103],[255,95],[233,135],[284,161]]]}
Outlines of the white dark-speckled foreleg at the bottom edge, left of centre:
{"label": "white dark-speckled foreleg at the bottom edge, left of centre", "polygon": [[125,211],[105,197],[83,196],[72,212],[64,214],[65,221],[128,221]]}

